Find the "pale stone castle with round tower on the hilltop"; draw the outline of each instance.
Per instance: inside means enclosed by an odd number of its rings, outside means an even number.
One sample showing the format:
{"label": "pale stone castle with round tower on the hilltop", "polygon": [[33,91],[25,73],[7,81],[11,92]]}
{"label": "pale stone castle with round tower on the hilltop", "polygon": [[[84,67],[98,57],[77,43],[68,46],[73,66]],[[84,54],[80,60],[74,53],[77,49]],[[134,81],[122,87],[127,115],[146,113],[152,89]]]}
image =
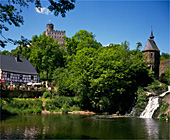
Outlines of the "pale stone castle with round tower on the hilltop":
{"label": "pale stone castle with round tower on the hilltop", "polygon": [[53,30],[54,25],[53,24],[47,24],[46,31],[44,33],[46,36],[51,36],[54,38],[54,40],[58,40],[58,44],[63,44],[64,39],[63,36],[65,36],[66,31],[58,31]]}

